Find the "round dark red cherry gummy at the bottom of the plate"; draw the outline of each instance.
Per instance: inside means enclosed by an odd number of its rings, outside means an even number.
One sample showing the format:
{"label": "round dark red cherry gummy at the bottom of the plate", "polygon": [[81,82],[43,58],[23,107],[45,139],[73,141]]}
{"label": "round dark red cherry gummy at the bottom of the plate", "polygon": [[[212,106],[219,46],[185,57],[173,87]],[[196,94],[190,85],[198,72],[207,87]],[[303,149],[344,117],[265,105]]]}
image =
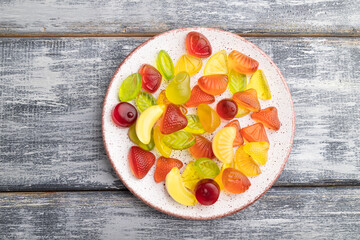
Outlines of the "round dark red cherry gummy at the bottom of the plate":
{"label": "round dark red cherry gummy at the bottom of the plate", "polygon": [[212,179],[203,179],[195,187],[195,197],[202,205],[214,204],[220,194],[219,185]]}

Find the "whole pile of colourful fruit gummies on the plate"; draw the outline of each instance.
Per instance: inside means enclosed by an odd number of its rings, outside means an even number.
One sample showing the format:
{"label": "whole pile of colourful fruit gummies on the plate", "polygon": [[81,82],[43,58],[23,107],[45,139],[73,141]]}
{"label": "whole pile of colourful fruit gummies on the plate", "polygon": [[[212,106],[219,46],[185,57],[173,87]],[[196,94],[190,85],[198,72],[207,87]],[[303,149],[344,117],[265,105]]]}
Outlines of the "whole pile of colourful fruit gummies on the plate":
{"label": "whole pile of colourful fruit gummies on the plate", "polygon": [[[123,81],[121,102],[113,109],[112,119],[117,126],[129,127],[129,138],[137,145],[128,155],[135,177],[145,177],[155,164],[156,157],[150,151],[156,147],[161,156],[156,162],[155,182],[165,180],[170,196],[183,205],[211,205],[221,190],[240,194],[249,189],[248,177],[259,175],[259,166],[267,162],[265,127],[277,131],[280,121],[275,107],[261,109],[258,98],[269,100],[271,92],[256,60],[236,50],[229,55],[222,50],[211,56],[210,42],[198,32],[188,33],[185,42],[187,54],[175,66],[168,53],[161,50],[156,68],[144,64]],[[200,71],[202,58],[207,57],[204,76],[191,89],[190,77]],[[159,89],[163,78],[168,84],[156,100],[151,93]],[[215,111],[208,104],[227,88],[232,99],[220,100]],[[128,103],[134,99],[137,109]],[[187,115],[187,109],[193,107],[197,107],[197,114]],[[257,122],[251,126],[241,128],[238,120],[232,120],[250,112]],[[202,136],[229,120],[212,141]],[[190,161],[180,174],[183,162],[170,156],[173,150],[185,149],[195,161]]]}

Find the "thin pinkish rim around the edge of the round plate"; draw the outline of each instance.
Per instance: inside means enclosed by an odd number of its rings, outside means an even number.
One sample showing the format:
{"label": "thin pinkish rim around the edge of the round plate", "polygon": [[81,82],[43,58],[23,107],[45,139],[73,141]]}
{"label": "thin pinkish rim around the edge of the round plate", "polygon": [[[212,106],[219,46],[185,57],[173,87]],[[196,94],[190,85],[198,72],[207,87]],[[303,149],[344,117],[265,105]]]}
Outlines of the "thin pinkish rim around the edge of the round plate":
{"label": "thin pinkish rim around the edge of the round plate", "polygon": [[[115,76],[117,75],[117,73],[120,71],[120,68],[121,66],[128,60],[128,58],[130,56],[132,56],[134,53],[137,52],[138,49],[140,49],[141,47],[143,47],[144,45],[146,45],[149,41],[152,41],[154,39],[156,39],[157,37],[163,35],[163,34],[168,34],[168,33],[171,33],[171,32],[180,32],[180,31],[197,31],[197,30],[201,30],[201,29],[207,29],[207,30],[210,30],[210,31],[215,31],[215,32],[221,32],[221,33],[226,33],[226,34],[231,34],[231,35],[235,35],[237,38],[241,39],[242,41],[245,41],[247,42],[248,44],[250,44],[253,48],[257,49],[265,58],[268,59],[268,61],[270,62],[270,64],[275,68],[275,70],[277,71],[277,73],[280,75],[281,77],[281,80],[284,84],[284,87],[286,89],[286,91],[289,93],[290,95],[290,100],[291,100],[291,110],[292,110],[292,113],[293,113],[293,120],[292,120],[292,124],[293,124],[293,128],[292,128],[292,135],[291,135],[291,140],[290,140],[290,147],[289,147],[289,151],[288,151],[288,154],[278,172],[278,174],[276,175],[274,181],[272,181],[267,187],[266,189],[264,190],[264,192],[262,194],[260,194],[257,198],[255,198],[254,200],[252,201],[249,201],[245,206],[241,207],[241,208],[237,208],[237,209],[234,209],[232,211],[229,211],[227,213],[224,213],[224,214],[221,214],[221,215],[217,215],[217,216],[212,216],[212,217],[189,217],[189,216],[182,216],[182,215],[179,215],[179,214],[174,214],[174,213],[171,213],[171,212],[168,212],[168,211],[165,211],[161,208],[158,208],[157,206],[149,203],[148,201],[146,201],[145,199],[141,198],[131,187],[129,187],[125,181],[123,181],[123,178],[121,177],[121,174],[116,170],[115,168],[115,164],[113,162],[113,160],[111,159],[110,157],[110,154],[109,154],[109,151],[108,151],[108,145],[106,143],[106,140],[105,140],[105,129],[104,129],[104,112],[105,112],[105,105],[106,105],[106,99],[107,99],[107,96],[108,96],[108,93],[109,93],[109,89],[110,89],[110,86],[112,84],[112,82],[114,81],[114,78]],[[286,165],[286,162],[290,156],[290,153],[291,153],[291,149],[292,149],[292,146],[294,144],[294,135],[295,135],[295,110],[294,110],[294,103],[293,103],[293,100],[292,100],[292,96],[291,96],[291,93],[290,93],[290,90],[289,90],[289,87],[285,81],[285,78],[284,76],[281,74],[279,68],[276,66],[276,64],[272,61],[272,59],[263,51],[261,50],[258,46],[256,46],[255,44],[253,44],[252,42],[246,40],[245,38],[243,37],[240,37],[239,35],[235,34],[235,33],[231,33],[231,32],[228,32],[228,31],[225,31],[225,30],[222,30],[222,29],[217,29],[217,28],[209,28],[209,27],[186,27],[186,28],[177,28],[177,29],[172,29],[172,30],[169,30],[169,31],[166,31],[166,32],[162,32],[160,34],[157,34],[151,38],[149,38],[148,40],[146,40],[145,42],[143,42],[142,44],[140,44],[139,46],[137,46],[134,50],[131,51],[131,53],[120,63],[120,65],[118,66],[118,68],[116,69],[114,75],[112,76],[110,82],[109,82],[109,85],[108,85],[108,88],[106,90],[106,93],[105,93],[105,98],[104,98],[104,103],[103,103],[103,110],[102,110],[102,114],[101,114],[101,131],[102,131],[102,138],[103,138],[103,142],[104,142],[104,147],[105,147],[105,151],[106,151],[106,155],[108,156],[109,160],[110,160],[110,163],[113,167],[113,169],[115,170],[116,172],[116,175],[120,178],[120,180],[122,181],[122,183],[125,185],[125,187],[133,194],[135,195],[137,198],[139,198],[140,200],[142,200],[145,204],[147,204],[148,206],[152,207],[152,208],[155,208],[156,210],[160,211],[160,212],[163,212],[163,213],[166,213],[168,215],[171,215],[171,216],[174,216],[174,217],[178,217],[178,218],[183,218],[183,219],[189,219],[189,220],[210,220],[210,219],[217,219],[217,218],[222,218],[222,217],[226,217],[226,216],[229,216],[229,215],[232,215],[234,213],[237,213],[245,208],[247,208],[248,206],[250,206],[251,204],[253,204],[254,202],[256,202],[260,197],[262,197],[271,187],[272,185],[276,182],[276,180],[279,178],[280,174],[282,173],[282,171],[284,170],[285,168],[285,165]]]}

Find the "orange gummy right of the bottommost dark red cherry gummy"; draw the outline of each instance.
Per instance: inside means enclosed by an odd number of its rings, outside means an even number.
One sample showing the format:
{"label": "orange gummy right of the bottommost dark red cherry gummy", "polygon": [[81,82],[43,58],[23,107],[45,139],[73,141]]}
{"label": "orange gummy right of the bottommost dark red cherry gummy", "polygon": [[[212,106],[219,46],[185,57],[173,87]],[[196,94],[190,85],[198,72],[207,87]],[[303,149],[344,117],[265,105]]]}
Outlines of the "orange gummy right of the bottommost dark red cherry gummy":
{"label": "orange gummy right of the bottommost dark red cherry gummy", "polygon": [[251,186],[249,179],[234,168],[226,168],[224,170],[222,183],[226,191],[236,194],[245,192]]}

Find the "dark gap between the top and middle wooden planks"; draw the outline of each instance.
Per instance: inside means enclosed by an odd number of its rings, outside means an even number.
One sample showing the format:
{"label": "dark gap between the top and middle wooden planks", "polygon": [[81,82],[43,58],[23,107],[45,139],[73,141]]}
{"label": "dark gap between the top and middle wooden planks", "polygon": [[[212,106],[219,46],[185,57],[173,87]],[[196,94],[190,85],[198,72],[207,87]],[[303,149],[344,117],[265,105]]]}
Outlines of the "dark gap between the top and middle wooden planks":
{"label": "dark gap between the top and middle wooden planks", "polygon": [[[80,38],[80,37],[153,37],[161,32],[149,33],[0,33],[0,38]],[[241,37],[360,37],[360,33],[235,33]]]}

